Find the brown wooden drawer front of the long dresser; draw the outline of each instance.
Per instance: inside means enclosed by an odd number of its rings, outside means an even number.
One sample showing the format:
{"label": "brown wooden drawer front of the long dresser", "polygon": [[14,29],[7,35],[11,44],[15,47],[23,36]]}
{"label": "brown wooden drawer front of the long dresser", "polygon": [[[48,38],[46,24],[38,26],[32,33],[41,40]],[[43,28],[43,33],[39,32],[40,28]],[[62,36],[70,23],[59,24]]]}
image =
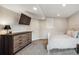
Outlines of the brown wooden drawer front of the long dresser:
{"label": "brown wooden drawer front of the long dresser", "polygon": [[25,33],[21,35],[14,36],[14,52],[18,51],[19,49],[23,48],[24,46],[28,45],[31,42],[31,34]]}

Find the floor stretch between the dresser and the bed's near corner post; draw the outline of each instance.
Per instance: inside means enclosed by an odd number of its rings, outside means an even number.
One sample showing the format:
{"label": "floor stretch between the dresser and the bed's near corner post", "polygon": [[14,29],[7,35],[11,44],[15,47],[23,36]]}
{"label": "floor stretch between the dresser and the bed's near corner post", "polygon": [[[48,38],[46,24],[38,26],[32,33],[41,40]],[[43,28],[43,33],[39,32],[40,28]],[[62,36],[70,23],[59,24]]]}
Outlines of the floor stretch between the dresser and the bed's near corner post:
{"label": "floor stretch between the dresser and the bed's near corner post", "polygon": [[24,49],[16,53],[16,55],[47,55],[47,40],[36,40]]}

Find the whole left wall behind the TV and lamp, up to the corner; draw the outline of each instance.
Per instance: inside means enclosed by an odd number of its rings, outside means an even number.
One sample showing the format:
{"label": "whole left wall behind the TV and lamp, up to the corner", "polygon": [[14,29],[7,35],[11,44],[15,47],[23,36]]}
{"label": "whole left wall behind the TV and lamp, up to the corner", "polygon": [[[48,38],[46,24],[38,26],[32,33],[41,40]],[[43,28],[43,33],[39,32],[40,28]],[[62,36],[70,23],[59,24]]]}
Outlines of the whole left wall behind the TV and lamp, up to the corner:
{"label": "whole left wall behind the TV and lamp, up to the corner", "polygon": [[0,30],[3,29],[4,25],[11,25],[13,32],[23,32],[23,31],[32,31],[32,40],[39,38],[39,20],[32,19],[31,24],[28,25],[19,25],[20,14],[15,13],[9,9],[3,8],[0,6]]}

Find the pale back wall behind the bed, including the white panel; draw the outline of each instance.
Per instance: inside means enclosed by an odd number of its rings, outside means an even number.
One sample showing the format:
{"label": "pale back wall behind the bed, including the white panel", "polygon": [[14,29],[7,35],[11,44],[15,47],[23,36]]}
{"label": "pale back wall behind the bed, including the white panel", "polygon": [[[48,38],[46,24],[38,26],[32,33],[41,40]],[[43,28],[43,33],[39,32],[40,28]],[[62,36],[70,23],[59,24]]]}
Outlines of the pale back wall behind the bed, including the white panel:
{"label": "pale back wall behind the bed, including the white panel", "polygon": [[48,33],[53,30],[65,33],[67,24],[68,20],[65,18],[46,18],[46,20],[40,21],[40,38],[46,39]]}

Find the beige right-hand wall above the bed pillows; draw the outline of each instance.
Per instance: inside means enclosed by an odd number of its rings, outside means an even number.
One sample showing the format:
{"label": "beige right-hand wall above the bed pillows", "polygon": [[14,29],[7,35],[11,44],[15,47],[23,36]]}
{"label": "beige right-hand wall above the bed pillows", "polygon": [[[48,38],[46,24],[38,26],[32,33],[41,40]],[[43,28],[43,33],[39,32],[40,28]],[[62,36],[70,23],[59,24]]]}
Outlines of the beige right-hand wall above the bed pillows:
{"label": "beige right-hand wall above the bed pillows", "polygon": [[69,17],[68,20],[69,20],[69,25],[68,25],[69,29],[71,28],[79,29],[79,12]]}

